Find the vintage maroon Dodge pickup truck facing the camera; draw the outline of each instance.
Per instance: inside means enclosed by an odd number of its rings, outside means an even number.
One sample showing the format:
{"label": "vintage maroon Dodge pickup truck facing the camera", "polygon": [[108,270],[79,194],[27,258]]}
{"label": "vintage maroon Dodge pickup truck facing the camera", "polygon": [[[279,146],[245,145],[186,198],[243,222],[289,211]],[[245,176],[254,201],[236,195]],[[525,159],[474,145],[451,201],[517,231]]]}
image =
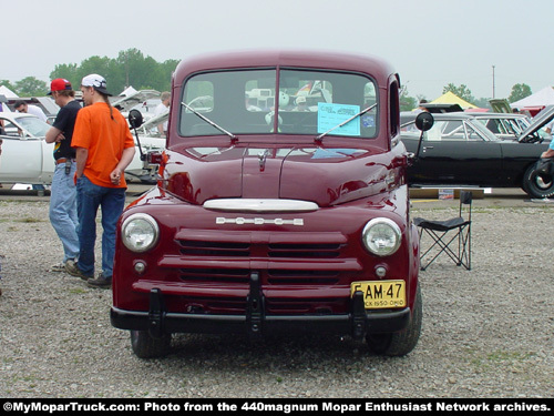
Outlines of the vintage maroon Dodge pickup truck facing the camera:
{"label": "vintage maroon Dodge pickup truck facing the camera", "polygon": [[388,64],[350,54],[181,62],[161,179],[116,236],[111,322],[137,356],[166,354],[174,333],[416,347],[419,236],[399,88]]}

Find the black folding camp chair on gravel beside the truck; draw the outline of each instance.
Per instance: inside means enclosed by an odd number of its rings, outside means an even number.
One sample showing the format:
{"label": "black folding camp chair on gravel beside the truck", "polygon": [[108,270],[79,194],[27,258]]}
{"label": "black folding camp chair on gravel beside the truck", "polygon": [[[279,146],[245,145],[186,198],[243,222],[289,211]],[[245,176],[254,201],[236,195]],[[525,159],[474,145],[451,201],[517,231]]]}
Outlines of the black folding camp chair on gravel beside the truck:
{"label": "black folding camp chair on gravel beside the truck", "polygon": [[[473,194],[470,191],[461,191],[458,217],[445,221],[429,221],[424,219],[413,220],[413,223],[420,229],[420,241],[423,232],[430,235],[433,241],[431,246],[420,256],[422,271],[434,262],[441,253],[447,253],[456,265],[471,270],[472,202]],[[464,219],[462,214],[466,217]],[[454,247],[456,243],[458,247]],[[431,257],[431,260],[428,260],[429,257]]]}

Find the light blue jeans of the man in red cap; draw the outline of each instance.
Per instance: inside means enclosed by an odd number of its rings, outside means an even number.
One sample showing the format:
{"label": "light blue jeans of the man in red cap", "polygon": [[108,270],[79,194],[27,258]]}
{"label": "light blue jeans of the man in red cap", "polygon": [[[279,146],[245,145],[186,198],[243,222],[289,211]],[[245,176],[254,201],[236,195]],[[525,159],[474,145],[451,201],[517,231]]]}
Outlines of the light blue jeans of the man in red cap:
{"label": "light blue jeans of the man in red cap", "polygon": [[75,170],[75,162],[71,164],[69,174],[65,174],[64,163],[57,164],[50,189],[50,223],[62,242],[63,262],[79,257],[76,187],[73,183]]}

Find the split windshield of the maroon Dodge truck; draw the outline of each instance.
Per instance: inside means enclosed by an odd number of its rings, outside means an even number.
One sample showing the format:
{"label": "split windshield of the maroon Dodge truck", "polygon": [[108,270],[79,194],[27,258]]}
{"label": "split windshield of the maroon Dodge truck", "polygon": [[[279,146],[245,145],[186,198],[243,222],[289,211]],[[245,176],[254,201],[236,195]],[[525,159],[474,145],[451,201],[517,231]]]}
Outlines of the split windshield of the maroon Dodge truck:
{"label": "split windshield of the maroon Dodge truck", "polygon": [[376,103],[376,91],[371,79],[345,72],[269,69],[202,73],[185,85],[179,134],[222,134],[213,122],[233,134],[315,136],[334,129],[328,135],[375,138],[378,106],[355,115]]}

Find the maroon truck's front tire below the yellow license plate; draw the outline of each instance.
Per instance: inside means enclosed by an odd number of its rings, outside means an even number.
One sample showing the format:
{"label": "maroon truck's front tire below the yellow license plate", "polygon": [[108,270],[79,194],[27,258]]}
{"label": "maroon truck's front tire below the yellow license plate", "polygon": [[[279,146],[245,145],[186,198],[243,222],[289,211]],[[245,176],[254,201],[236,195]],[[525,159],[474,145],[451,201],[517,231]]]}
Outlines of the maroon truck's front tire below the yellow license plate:
{"label": "maroon truck's front tire below the yellow license plate", "polygon": [[418,286],[416,304],[410,324],[403,331],[391,334],[367,334],[369,348],[378,355],[402,356],[410,353],[418,344],[421,333],[422,300]]}

